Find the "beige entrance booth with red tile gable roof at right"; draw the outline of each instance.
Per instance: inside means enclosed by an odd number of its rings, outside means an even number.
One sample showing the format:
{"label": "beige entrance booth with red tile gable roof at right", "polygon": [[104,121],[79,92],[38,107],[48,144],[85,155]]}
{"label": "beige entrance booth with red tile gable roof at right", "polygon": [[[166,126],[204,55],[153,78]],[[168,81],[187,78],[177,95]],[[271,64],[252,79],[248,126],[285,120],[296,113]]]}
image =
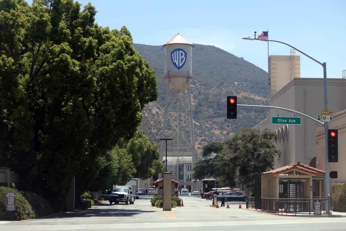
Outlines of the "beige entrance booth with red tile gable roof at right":
{"label": "beige entrance booth with red tile gable roof at right", "polygon": [[304,213],[324,196],[325,171],[300,162],[262,172],[262,210]]}

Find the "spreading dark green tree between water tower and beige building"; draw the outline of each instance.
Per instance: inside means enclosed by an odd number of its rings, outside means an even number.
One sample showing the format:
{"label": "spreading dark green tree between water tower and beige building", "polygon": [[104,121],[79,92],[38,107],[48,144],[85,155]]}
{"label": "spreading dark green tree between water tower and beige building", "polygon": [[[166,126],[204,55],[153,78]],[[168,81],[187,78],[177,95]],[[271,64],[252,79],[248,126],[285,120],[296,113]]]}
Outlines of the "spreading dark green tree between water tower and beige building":
{"label": "spreading dark green tree between water tower and beige building", "polygon": [[273,169],[275,158],[280,161],[281,151],[273,144],[274,138],[274,132],[267,128],[245,128],[223,143],[206,144],[202,156],[209,157],[211,153],[216,153],[216,156],[199,160],[193,168],[193,178],[219,177],[231,187],[238,178],[240,183],[248,185],[255,172]]}

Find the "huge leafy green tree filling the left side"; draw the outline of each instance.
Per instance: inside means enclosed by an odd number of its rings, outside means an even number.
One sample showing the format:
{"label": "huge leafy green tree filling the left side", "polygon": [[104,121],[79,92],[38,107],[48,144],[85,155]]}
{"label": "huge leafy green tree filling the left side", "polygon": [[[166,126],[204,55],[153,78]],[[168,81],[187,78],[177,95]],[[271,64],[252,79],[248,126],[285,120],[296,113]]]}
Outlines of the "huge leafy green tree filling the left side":
{"label": "huge leafy green tree filling the left side", "polygon": [[73,0],[0,0],[0,165],[58,204],[130,139],[157,98],[154,70],[126,27],[102,28]]}

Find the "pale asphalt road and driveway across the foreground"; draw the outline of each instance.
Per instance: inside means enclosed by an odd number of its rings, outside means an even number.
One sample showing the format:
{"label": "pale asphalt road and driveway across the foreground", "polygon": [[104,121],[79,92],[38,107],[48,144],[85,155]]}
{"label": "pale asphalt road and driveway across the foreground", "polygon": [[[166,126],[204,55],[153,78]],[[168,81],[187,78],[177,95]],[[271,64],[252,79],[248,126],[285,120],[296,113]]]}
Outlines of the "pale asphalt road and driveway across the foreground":
{"label": "pale asphalt road and driveway across the foreground", "polygon": [[[60,213],[42,219],[15,222],[0,222],[0,230],[343,230],[345,216],[288,217],[239,209],[239,203],[230,203],[230,208],[210,207],[211,201],[200,197],[182,197],[184,207],[163,211],[152,207],[149,198],[137,199],[134,205],[93,206],[85,211]],[[220,204],[219,204],[220,205]],[[227,205],[227,204],[226,204]]]}

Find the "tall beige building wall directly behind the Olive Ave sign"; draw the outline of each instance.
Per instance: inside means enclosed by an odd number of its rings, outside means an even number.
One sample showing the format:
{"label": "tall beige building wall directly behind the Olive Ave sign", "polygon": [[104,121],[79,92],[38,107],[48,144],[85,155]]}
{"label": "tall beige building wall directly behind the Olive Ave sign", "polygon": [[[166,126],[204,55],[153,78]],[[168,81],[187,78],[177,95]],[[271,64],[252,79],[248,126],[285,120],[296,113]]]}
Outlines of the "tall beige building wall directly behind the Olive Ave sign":
{"label": "tall beige building wall directly behind the Olive Ave sign", "polygon": [[[324,85],[320,78],[294,78],[270,97],[270,105],[288,108],[306,114],[312,118],[321,117],[324,108]],[[343,79],[327,79],[328,107],[338,112],[344,109]],[[291,112],[278,110],[280,117],[292,117]],[[270,117],[255,127],[270,128],[275,132],[282,131],[283,124],[272,124],[272,118],[277,116],[276,110],[270,109]],[[301,117],[300,115],[296,115]],[[288,125],[288,139],[277,139],[275,145],[282,151],[281,162],[276,161],[275,168],[301,162],[309,165],[315,154],[315,123],[301,117],[301,125]],[[286,130],[286,126],[284,126]],[[286,131],[285,131],[286,132]],[[317,167],[318,168],[318,167]]]}

